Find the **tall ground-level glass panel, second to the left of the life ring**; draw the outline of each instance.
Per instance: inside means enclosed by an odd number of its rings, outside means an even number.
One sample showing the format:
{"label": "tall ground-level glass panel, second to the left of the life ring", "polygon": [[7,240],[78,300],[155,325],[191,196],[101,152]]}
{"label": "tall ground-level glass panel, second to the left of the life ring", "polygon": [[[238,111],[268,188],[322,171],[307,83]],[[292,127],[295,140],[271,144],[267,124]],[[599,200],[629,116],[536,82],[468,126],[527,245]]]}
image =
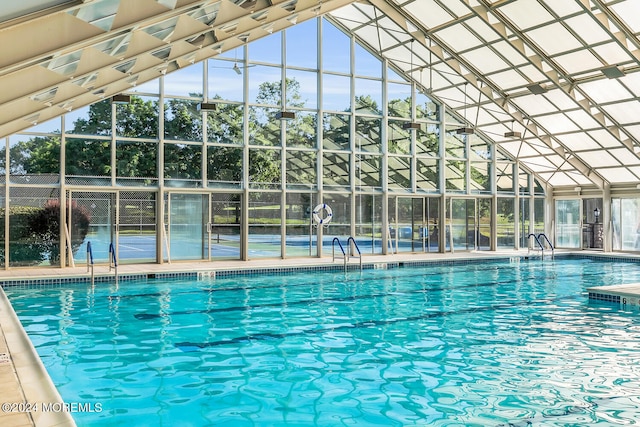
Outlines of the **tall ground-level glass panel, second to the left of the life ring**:
{"label": "tall ground-level glass panel, second to the left of the life ring", "polygon": [[280,257],[281,193],[249,194],[249,258]]}

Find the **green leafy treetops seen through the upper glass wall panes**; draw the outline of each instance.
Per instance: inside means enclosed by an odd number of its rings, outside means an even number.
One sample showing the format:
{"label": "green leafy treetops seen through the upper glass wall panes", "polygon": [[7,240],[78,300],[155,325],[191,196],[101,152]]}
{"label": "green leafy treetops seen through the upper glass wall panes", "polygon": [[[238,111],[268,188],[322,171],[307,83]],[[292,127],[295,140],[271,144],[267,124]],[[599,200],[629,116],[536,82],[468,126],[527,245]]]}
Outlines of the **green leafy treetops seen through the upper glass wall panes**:
{"label": "green leafy treetops seen through the upper glass wall panes", "polygon": [[[303,108],[306,104],[300,94],[301,85],[295,79],[287,78],[287,108]],[[164,105],[164,135],[158,135],[160,114],[159,101],[132,96],[128,104],[116,106],[116,123],[112,127],[113,107],[108,100],[89,107],[86,117],[77,119],[69,131],[73,136],[66,138],[66,173],[77,176],[110,176],[113,171],[111,162],[112,134],[116,140],[116,176],[126,178],[155,178],[159,173],[170,179],[199,180],[202,178],[203,151],[197,144],[204,139],[207,131],[205,165],[209,181],[239,183],[243,179],[243,168],[248,168],[252,182],[279,184],[281,182],[281,159],[277,150],[251,149],[248,164],[244,164],[242,144],[244,133],[250,135],[250,144],[263,147],[281,146],[282,122],[275,114],[282,106],[283,82],[264,82],[259,87],[255,104],[249,107],[248,121],[245,123],[244,106],[218,102],[214,114],[203,115],[197,111],[196,103],[191,100],[169,99]],[[190,94],[194,98],[202,95]],[[220,100],[219,96],[214,99]],[[410,99],[389,101],[390,114],[408,117]],[[381,115],[381,106],[368,95],[356,97],[358,112]],[[348,113],[349,109],[345,111]],[[206,119],[206,126],[203,123]],[[294,120],[286,122],[287,146],[316,148],[317,114],[298,113]],[[245,129],[246,128],[246,129]],[[363,151],[379,152],[381,142],[381,119],[360,118],[356,122],[356,133],[361,138],[359,148]],[[324,126],[326,148],[350,148],[349,115],[332,115],[330,123]],[[82,135],[87,135],[83,137]],[[422,146],[433,145],[437,150],[437,137],[423,135]],[[96,138],[102,137],[103,139]],[[158,140],[166,138],[164,145],[164,171],[158,171],[158,143],[139,139]],[[180,141],[172,144],[171,140]],[[408,141],[408,140],[407,140]],[[187,143],[184,143],[187,142]],[[189,144],[188,142],[194,142]],[[10,173],[12,174],[59,174],[60,173],[60,137],[34,137],[18,142],[11,148]],[[393,143],[390,142],[390,145]],[[407,145],[408,142],[405,142]],[[395,152],[392,148],[390,151]],[[407,148],[396,151],[405,153]],[[305,160],[299,156],[301,160]],[[314,163],[313,158],[309,158]],[[368,161],[368,160],[367,160]],[[300,161],[292,159],[299,164]],[[291,164],[290,164],[291,166]],[[297,167],[290,178],[298,183],[315,181],[315,166],[310,170]],[[366,165],[365,165],[366,166]],[[379,170],[378,164],[371,168]],[[307,173],[308,172],[308,173]],[[367,177],[365,177],[367,178]],[[377,180],[375,180],[376,184]],[[372,184],[373,185],[373,184]]]}

